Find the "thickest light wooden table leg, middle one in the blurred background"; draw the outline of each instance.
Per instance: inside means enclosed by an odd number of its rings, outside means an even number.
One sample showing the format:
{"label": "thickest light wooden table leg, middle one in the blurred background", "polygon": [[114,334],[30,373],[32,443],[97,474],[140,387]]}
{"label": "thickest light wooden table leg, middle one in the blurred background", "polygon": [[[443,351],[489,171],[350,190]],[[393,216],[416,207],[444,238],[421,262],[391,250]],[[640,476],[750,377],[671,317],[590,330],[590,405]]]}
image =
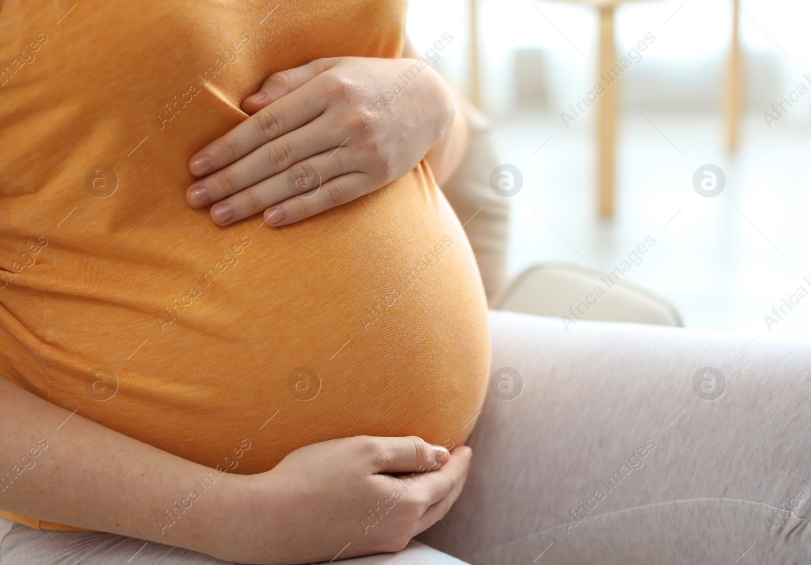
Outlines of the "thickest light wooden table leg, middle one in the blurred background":
{"label": "thickest light wooden table leg, middle one in the blurred background", "polygon": [[[617,64],[614,45],[614,8],[600,8],[600,62],[599,72],[607,76],[607,71]],[[598,83],[605,84],[598,77]],[[603,218],[614,215],[614,181],[616,158],[616,122],[619,111],[620,81],[611,84],[599,97],[597,114],[598,146],[598,202],[599,214]]]}

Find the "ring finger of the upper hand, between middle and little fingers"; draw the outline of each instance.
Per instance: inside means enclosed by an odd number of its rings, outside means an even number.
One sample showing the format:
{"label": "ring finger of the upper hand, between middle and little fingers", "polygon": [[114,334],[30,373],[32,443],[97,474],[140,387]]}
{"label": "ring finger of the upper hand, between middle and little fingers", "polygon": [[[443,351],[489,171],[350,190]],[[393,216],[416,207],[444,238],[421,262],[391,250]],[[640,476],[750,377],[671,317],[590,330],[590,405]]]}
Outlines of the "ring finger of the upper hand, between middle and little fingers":
{"label": "ring finger of the upper hand, between middle and little fingers", "polygon": [[[307,194],[317,194],[325,183],[357,169],[358,164],[349,157],[350,153],[345,153],[345,156],[341,158],[330,157],[329,153],[331,152],[320,153],[303,162],[298,162],[278,175],[264,179],[260,183],[217,202],[211,207],[212,220],[221,226],[227,226],[242,218],[263,212],[269,206],[277,205],[285,199],[295,200],[298,195],[302,195],[304,200],[309,200]],[[291,207],[291,205],[287,206],[287,208]],[[281,210],[271,218],[270,222],[283,219],[282,214],[284,213],[285,210]]]}

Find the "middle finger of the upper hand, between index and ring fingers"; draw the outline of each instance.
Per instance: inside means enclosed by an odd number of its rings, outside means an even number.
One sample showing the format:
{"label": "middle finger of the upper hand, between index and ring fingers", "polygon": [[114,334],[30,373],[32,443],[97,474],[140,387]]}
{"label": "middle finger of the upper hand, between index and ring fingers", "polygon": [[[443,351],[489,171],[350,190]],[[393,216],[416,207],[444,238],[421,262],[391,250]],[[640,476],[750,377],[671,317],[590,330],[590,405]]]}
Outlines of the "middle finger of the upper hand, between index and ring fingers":
{"label": "middle finger of the upper hand, between index and ring fingers", "polygon": [[[238,162],[195,181],[187,188],[186,201],[194,208],[221,201],[225,196],[277,175],[296,162],[335,149],[341,143],[336,136],[337,128],[325,127],[321,120],[323,118],[315,119],[294,132],[262,145]],[[324,135],[324,132],[327,134]]]}

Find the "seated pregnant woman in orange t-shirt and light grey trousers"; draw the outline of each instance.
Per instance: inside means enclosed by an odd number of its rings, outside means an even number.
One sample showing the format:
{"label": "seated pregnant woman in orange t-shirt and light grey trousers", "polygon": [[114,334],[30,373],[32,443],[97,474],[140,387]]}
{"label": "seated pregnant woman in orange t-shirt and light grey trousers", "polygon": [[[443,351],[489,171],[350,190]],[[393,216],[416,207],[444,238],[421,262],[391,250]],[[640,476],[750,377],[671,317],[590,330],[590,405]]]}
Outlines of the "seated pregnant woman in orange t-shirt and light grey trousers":
{"label": "seated pregnant woman in orange t-shirt and light grey trousers", "polygon": [[488,318],[405,11],[0,2],[0,564],[809,562],[808,344]]}

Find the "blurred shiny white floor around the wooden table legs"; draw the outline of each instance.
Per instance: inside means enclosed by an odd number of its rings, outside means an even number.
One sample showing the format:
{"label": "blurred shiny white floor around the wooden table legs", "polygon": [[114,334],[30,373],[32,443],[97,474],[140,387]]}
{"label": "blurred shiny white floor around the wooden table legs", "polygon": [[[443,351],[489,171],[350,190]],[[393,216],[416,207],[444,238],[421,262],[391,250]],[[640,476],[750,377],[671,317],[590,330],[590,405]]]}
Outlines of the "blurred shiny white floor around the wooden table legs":
{"label": "blurred shiny white floor around the wooden table legs", "polygon": [[[612,270],[651,235],[654,247],[624,278],[670,301],[685,326],[811,335],[811,295],[783,306],[770,329],[764,320],[798,287],[811,292],[811,132],[751,115],[742,144],[751,141],[732,158],[718,115],[644,111],[621,119],[608,222],[596,213],[592,124],[566,129],[537,112],[495,121],[502,162],[524,175],[511,201],[511,274],[547,261]],[[711,198],[693,188],[708,163],[727,177]]]}

